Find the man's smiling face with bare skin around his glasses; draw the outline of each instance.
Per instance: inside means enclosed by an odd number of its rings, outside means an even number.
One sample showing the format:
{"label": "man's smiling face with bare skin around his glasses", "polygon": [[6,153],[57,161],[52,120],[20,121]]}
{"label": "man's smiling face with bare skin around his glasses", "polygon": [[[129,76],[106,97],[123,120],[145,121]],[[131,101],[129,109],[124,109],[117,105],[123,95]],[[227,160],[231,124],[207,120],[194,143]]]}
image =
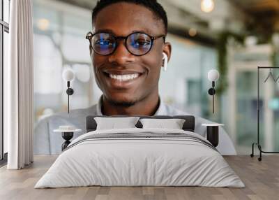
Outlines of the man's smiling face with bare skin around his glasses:
{"label": "man's smiling face with bare skin around his glasses", "polygon": [[[114,3],[100,10],[93,34],[102,30],[115,36],[128,36],[133,31],[143,31],[150,36],[165,34],[163,22],[156,19],[148,8],[134,3]],[[128,52],[123,40],[118,43],[112,55],[97,55],[91,50],[96,82],[105,98],[119,105],[133,105],[153,92],[158,93],[163,52],[170,57],[169,43],[164,44],[163,38],[158,38],[153,41],[151,50],[142,56]],[[116,76],[123,75],[137,78],[116,79]]]}

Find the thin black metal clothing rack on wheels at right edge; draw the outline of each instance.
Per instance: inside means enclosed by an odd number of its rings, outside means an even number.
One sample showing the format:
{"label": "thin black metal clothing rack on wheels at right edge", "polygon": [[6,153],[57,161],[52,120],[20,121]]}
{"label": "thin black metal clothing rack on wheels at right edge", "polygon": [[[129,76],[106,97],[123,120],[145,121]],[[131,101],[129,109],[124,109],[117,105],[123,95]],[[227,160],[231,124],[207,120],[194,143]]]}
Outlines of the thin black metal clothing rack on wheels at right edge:
{"label": "thin black metal clothing rack on wheels at right edge", "polygon": [[259,143],[259,70],[260,69],[279,69],[277,66],[258,66],[257,67],[257,143],[252,143],[252,153],[251,157],[254,157],[254,145],[257,145],[259,148],[259,157],[258,160],[262,160],[262,153],[279,153],[279,152],[267,152],[262,150],[262,146]]}

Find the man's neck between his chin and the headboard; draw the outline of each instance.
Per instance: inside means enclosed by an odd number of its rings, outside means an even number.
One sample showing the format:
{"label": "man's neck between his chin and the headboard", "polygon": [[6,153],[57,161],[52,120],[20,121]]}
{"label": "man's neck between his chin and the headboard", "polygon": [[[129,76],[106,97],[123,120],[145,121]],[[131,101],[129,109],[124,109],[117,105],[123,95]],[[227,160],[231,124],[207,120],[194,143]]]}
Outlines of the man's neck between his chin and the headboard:
{"label": "man's neck between his chin and the headboard", "polygon": [[160,99],[157,94],[137,101],[133,106],[125,107],[112,104],[103,95],[101,105],[103,115],[154,115],[160,106]]}

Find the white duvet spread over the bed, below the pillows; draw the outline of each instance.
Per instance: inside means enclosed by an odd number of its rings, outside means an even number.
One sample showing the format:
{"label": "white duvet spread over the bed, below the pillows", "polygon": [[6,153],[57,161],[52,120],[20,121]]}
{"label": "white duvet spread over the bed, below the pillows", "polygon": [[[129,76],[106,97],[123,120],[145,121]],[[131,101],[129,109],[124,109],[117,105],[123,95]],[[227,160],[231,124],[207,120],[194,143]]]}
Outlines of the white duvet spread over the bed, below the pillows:
{"label": "white duvet spread over the bed, below the pillows", "polygon": [[[127,136],[114,138],[121,133]],[[183,135],[176,137],[172,133]],[[133,134],[142,137],[133,137]],[[156,134],[158,138],[153,137]],[[198,134],[178,129],[91,131],[70,143],[35,188],[89,185],[245,187],[222,155],[208,143]]]}

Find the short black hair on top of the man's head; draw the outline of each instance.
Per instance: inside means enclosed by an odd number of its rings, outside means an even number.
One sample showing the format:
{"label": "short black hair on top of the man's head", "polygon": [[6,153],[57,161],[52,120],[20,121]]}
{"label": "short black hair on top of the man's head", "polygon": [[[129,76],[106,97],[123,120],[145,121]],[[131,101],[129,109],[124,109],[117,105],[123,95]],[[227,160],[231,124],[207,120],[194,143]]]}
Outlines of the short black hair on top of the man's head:
{"label": "short black hair on top of the man's head", "polygon": [[98,0],[95,8],[92,10],[92,24],[94,20],[96,20],[96,16],[100,10],[110,6],[113,3],[119,2],[135,3],[148,8],[155,14],[158,20],[163,20],[165,25],[165,34],[167,34],[167,13],[165,12],[163,6],[157,2],[157,0]]}

